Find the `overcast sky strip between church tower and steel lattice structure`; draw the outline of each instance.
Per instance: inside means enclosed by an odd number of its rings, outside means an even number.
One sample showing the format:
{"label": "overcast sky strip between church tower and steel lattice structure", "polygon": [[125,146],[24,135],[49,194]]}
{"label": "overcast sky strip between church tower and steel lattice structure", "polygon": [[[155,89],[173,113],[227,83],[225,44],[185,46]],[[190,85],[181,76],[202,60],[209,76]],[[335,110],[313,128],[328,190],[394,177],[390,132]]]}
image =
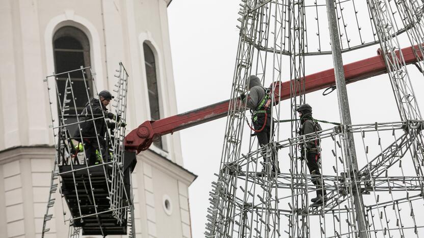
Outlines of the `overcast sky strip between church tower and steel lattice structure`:
{"label": "overcast sky strip between church tower and steel lattice structure", "polygon": [[[168,7],[178,112],[229,98],[239,1],[174,0]],[[199,175],[190,186],[193,237],[204,237],[210,183],[221,160],[225,118],[180,132],[184,167]]]}

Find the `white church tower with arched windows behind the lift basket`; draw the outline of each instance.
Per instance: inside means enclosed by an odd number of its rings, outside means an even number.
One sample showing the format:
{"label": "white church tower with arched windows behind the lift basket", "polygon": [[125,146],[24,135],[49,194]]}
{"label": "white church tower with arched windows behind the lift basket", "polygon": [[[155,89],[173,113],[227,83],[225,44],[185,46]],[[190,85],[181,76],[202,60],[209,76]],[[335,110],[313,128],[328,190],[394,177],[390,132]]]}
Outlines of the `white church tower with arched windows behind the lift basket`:
{"label": "white church tower with arched windows behind the lift basket", "polygon": [[[127,132],[177,113],[170,2],[0,1],[0,238],[41,237],[55,157],[46,75],[90,66],[98,90],[112,91],[122,61],[130,77]],[[139,154],[136,236],[191,237],[188,187],[195,178],[183,168],[178,133]],[[68,235],[57,195],[45,237]]]}

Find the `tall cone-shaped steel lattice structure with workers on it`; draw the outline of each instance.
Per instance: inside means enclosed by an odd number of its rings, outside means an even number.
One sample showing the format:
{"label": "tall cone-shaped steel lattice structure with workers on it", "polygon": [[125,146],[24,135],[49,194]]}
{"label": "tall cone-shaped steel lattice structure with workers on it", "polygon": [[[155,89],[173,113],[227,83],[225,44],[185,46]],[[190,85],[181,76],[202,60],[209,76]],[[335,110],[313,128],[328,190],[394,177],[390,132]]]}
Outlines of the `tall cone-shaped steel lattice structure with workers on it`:
{"label": "tall cone-shaped steel lattice structure with workers on it", "polygon": [[[335,0],[334,4],[335,8],[327,8],[325,0],[242,0],[225,141],[210,192],[206,237],[419,237],[422,232],[424,122],[400,49],[416,45],[417,66],[424,69],[419,56],[424,52],[423,1]],[[349,119],[321,132],[297,135],[296,108],[308,102],[305,61],[332,53],[326,44],[327,13],[336,16],[337,33],[332,36],[340,52],[380,45],[399,122],[352,125]],[[254,137],[243,138],[246,105],[238,98],[252,74],[271,85],[281,83],[284,76],[292,79],[291,132],[280,131],[283,111],[278,104],[272,110],[274,142],[264,147],[258,147]],[[281,139],[288,134],[289,139]],[[334,171],[322,175],[329,198],[323,206],[309,201],[317,188],[299,151],[302,144],[316,139],[322,141],[326,157],[322,166]],[[281,155],[288,155],[289,168],[278,174],[267,169],[265,176],[258,176],[265,163],[262,158],[272,161],[276,150],[280,161]]]}

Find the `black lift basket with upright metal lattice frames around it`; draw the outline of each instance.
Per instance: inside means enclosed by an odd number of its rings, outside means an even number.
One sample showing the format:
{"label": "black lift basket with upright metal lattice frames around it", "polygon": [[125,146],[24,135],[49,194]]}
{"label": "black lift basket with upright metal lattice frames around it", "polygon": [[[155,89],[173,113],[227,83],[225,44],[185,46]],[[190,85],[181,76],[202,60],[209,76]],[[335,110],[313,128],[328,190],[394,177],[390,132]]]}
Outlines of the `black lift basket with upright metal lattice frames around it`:
{"label": "black lift basket with upright metal lattice frames around it", "polygon": [[[49,209],[55,204],[54,194],[58,189],[63,204],[67,205],[63,215],[70,225],[70,237],[79,237],[81,233],[129,234],[134,237],[131,172],[137,160],[136,153],[125,151],[123,146],[128,74],[120,63],[115,75],[118,78],[115,98],[111,100],[113,117],[100,109],[103,106],[99,100],[91,101],[91,92],[97,92],[93,75],[90,67],[81,67],[45,79],[56,140],[56,159],[42,237],[49,231],[46,223],[52,218]],[[90,87],[94,90],[91,91]],[[89,101],[91,104],[82,104]],[[56,111],[57,114],[53,113]],[[95,136],[88,137],[87,134]],[[88,164],[90,160],[95,164]]]}

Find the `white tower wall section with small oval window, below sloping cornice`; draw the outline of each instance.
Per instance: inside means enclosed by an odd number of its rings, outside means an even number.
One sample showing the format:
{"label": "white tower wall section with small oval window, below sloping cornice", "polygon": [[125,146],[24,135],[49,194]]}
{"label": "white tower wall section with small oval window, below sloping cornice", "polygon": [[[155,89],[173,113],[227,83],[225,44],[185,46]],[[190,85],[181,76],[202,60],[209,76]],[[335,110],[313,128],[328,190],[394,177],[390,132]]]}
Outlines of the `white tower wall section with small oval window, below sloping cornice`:
{"label": "white tower wall section with small oval window, below sloping cornice", "polygon": [[[151,152],[138,156],[137,167],[143,181],[138,187],[139,211],[146,214],[141,220],[143,237],[191,238],[188,187],[194,176]],[[171,203],[170,212],[165,199]]]}

